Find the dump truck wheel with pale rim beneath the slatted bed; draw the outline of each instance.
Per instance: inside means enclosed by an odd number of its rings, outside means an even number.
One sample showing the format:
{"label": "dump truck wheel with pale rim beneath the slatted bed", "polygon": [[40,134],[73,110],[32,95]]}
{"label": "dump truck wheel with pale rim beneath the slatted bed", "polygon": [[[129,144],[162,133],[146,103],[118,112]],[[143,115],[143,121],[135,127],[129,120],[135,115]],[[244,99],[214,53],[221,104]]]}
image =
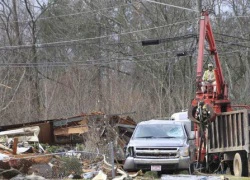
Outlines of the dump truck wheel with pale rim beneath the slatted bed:
{"label": "dump truck wheel with pale rim beneath the slatted bed", "polygon": [[248,165],[246,161],[247,157],[245,153],[236,153],[234,156],[234,175],[241,177],[241,176],[248,176]]}

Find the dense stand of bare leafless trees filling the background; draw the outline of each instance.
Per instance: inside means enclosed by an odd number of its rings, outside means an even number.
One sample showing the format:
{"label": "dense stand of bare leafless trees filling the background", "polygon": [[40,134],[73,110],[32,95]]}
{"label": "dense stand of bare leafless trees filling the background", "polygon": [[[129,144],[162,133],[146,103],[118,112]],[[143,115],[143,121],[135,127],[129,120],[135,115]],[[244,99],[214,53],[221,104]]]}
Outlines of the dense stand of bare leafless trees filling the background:
{"label": "dense stand of bare leafless trees filling the background", "polygon": [[[6,123],[92,111],[136,111],[140,121],[188,108],[199,1],[48,2],[0,2],[0,115]],[[230,97],[248,103],[248,1],[204,0],[202,6],[210,12]],[[148,39],[161,43],[142,46]]]}

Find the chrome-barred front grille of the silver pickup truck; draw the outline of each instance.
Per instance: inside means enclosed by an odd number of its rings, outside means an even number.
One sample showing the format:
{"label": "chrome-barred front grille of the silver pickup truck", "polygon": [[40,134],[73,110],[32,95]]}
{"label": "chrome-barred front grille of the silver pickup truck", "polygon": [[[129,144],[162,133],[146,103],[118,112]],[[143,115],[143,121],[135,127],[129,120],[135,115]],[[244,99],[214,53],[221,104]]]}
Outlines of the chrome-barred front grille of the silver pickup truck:
{"label": "chrome-barred front grille of the silver pickup truck", "polygon": [[178,158],[178,148],[135,148],[137,158],[173,159]]}

